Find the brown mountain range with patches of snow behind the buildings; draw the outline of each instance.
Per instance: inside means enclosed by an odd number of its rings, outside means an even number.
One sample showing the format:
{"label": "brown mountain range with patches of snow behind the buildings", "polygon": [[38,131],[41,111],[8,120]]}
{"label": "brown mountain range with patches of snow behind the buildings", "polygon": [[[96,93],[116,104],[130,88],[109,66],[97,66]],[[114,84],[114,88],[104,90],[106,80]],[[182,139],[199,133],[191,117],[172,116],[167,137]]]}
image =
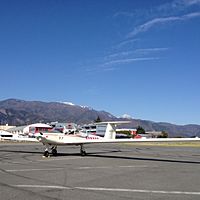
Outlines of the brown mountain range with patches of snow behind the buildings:
{"label": "brown mountain range with patches of snow behind the buildings", "polygon": [[200,136],[200,125],[175,125],[141,119],[118,118],[106,111],[96,111],[90,107],[69,102],[42,102],[7,99],[0,101],[0,124],[25,125],[37,122],[74,122],[87,124],[97,118],[102,121],[128,120],[129,128],[143,127],[146,131],[166,131],[170,137]]}

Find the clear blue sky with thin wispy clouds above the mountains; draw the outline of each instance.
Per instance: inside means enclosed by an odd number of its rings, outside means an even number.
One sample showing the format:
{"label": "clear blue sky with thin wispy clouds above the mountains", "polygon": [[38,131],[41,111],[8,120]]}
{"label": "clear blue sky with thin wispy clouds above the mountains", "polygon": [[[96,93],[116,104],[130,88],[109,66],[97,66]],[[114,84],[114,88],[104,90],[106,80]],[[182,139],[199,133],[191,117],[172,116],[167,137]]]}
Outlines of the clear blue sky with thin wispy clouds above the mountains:
{"label": "clear blue sky with thin wispy clouds above the mountains", "polygon": [[0,100],[200,124],[200,0],[0,0]]}

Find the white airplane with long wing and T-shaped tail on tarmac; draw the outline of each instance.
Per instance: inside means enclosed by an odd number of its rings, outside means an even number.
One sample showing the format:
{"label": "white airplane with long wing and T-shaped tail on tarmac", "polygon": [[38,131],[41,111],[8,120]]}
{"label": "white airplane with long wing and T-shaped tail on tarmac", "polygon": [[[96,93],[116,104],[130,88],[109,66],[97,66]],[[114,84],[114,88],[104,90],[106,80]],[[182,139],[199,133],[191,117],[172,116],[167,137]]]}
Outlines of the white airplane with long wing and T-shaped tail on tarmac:
{"label": "white airplane with long wing and T-shaped tail on tarmac", "polygon": [[65,135],[63,133],[39,133],[36,138],[45,145],[44,157],[57,155],[57,146],[77,145],[80,146],[80,154],[86,155],[84,145],[94,143],[140,143],[140,142],[200,142],[200,138],[150,138],[150,139],[116,139],[116,125],[128,123],[124,121],[100,122],[98,124],[107,124],[105,135],[103,137],[82,132]]}

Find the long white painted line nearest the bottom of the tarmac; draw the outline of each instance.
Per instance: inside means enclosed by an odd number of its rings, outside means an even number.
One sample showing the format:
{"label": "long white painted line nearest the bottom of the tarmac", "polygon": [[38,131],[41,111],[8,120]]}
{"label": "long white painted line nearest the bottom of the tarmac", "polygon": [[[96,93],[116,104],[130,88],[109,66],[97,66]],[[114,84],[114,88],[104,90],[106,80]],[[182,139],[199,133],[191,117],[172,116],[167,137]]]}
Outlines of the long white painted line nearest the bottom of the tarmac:
{"label": "long white painted line nearest the bottom of the tarmac", "polygon": [[139,190],[125,188],[94,188],[94,187],[66,187],[56,185],[12,185],[20,188],[47,188],[47,189],[64,189],[64,190],[86,190],[86,191],[107,191],[107,192],[131,192],[131,193],[153,193],[153,194],[174,194],[174,195],[200,195],[200,192],[187,191],[164,191],[164,190]]}

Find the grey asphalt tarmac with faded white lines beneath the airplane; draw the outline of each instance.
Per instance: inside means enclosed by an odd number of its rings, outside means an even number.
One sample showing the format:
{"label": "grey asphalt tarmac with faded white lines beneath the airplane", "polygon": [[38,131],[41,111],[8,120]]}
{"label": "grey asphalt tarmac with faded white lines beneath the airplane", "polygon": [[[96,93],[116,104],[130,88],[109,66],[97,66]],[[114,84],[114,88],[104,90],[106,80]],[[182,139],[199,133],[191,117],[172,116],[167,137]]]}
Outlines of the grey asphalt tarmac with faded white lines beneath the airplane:
{"label": "grey asphalt tarmac with faded white lines beneath the airplane", "polygon": [[0,199],[199,200],[200,148],[92,144],[58,147],[0,142]]}

